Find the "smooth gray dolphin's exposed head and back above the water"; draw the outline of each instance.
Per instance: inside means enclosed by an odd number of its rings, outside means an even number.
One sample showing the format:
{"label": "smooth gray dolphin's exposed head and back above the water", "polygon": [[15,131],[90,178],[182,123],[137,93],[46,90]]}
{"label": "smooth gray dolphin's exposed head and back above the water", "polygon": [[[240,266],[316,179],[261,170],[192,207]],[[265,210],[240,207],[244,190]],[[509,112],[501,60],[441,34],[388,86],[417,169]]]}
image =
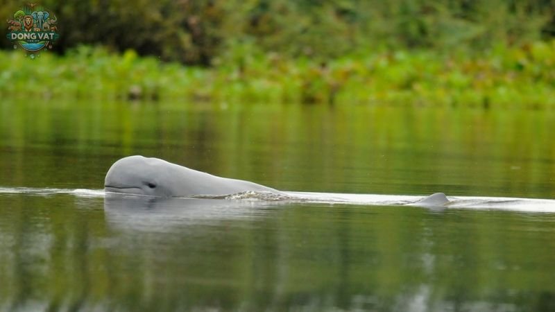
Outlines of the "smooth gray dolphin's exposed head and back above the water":
{"label": "smooth gray dolphin's exposed head and back above the water", "polygon": [[115,162],[104,180],[105,191],[157,197],[222,196],[275,189],[253,182],[216,177],[162,159],[129,156]]}

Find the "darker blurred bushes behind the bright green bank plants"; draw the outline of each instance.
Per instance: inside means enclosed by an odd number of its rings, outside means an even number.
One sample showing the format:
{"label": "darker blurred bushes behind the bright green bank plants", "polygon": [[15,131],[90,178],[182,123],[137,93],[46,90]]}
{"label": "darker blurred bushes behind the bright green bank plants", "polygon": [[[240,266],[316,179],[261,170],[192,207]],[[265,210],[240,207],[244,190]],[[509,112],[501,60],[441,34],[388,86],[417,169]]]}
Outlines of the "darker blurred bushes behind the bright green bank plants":
{"label": "darker blurred bushes behind the bright green bank plants", "polygon": [[[0,1],[6,18],[22,1]],[[79,44],[209,65],[234,46],[328,60],[384,49],[526,44],[555,34],[553,0],[44,0],[64,53]],[[3,29],[3,37],[7,32]],[[10,46],[2,40],[4,48]]]}

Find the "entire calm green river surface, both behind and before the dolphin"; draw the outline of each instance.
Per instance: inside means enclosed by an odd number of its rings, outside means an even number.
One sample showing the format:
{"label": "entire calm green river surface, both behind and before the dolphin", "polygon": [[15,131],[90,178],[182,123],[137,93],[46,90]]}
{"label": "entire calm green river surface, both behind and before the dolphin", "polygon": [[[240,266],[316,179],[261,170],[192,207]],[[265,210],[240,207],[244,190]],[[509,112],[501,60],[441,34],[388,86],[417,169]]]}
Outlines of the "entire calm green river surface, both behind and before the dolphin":
{"label": "entire calm green river surface, both behind and before the dolphin", "polygon": [[133,154],[291,191],[555,198],[555,112],[0,101],[0,311],[553,311],[555,214],[121,198]]}

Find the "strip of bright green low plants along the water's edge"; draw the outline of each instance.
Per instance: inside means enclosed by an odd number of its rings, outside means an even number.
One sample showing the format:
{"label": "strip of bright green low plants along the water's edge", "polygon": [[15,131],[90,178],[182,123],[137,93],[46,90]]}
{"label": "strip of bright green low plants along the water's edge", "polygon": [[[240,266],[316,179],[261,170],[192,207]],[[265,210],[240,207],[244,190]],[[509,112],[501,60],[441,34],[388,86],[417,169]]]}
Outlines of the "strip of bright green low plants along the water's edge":
{"label": "strip of bright green low plants along the water's edge", "polygon": [[358,53],[330,62],[235,49],[212,68],[80,46],[65,56],[0,51],[0,95],[287,103],[555,105],[555,41],[488,53]]}

